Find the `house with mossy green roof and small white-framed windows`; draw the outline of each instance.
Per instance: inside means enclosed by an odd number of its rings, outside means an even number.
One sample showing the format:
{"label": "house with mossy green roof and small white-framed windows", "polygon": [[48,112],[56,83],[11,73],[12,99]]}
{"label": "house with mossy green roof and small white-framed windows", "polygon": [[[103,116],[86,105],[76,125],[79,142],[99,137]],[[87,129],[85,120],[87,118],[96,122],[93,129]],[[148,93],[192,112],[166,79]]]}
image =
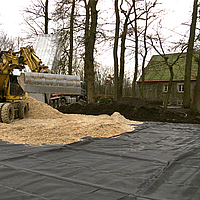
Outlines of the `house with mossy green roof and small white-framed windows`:
{"label": "house with mossy green roof and small white-framed windows", "polygon": [[[191,71],[191,101],[194,96],[194,87],[196,85],[196,76],[198,70],[197,59],[199,58],[199,51],[194,53],[193,64]],[[168,54],[168,62],[172,64],[178,57],[179,53]],[[185,61],[186,53],[183,53],[176,64],[173,66],[174,78],[172,83],[171,95],[168,101],[169,105],[182,105],[184,94],[184,76],[185,76]],[[165,64],[164,59],[160,55],[152,56],[147,67],[145,68],[144,81],[144,98],[152,101],[164,102],[166,93],[168,91],[168,84],[170,78],[170,71]],[[140,87],[142,83],[142,76],[137,84]]]}

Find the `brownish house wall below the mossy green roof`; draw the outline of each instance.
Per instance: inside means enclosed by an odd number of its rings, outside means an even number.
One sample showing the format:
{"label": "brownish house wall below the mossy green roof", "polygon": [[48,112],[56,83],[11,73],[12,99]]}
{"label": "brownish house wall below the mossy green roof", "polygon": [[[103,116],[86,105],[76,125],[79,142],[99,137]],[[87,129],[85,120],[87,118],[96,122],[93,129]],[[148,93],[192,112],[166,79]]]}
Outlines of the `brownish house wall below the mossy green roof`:
{"label": "brownish house wall below the mossy green roof", "polygon": [[[162,101],[164,102],[167,91],[164,91],[164,85],[168,85],[169,82],[145,82],[144,83],[144,98],[150,101]],[[191,101],[194,96],[194,86],[196,82],[191,81]],[[139,87],[141,83],[138,84]],[[184,85],[183,81],[175,81],[172,83],[172,91],[169,97],[170,105],[181,105],[183,102],[184,91],[178,91],[178,85]],[[181,86],[183,87],[183,86]]]}

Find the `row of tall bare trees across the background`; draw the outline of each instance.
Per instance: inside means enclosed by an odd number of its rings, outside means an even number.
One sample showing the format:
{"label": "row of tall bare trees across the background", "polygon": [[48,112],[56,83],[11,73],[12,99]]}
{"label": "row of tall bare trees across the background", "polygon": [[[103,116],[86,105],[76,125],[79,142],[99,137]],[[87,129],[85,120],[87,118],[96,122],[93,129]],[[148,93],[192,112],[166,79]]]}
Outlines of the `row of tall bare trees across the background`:
{"label": "row of tall bare trees across the background", "polygon": [[[142,77],[140,97],[144,98],[147,56],[154,50],[162,56],[170,71],[169,90],[165,100],[167,107],[173,81],[173,66],[180,55],[187,51],[183,106],[190,107],[188,97],[190,98],[191,58],[198,37],[195,33],[198,0],[194,0],[190,35],[170,46],[170,52],[180,52],[173,63],[168,63],[165,49],[169,49],[169,46],[162,36],[162,29],[159,30],[164,11],[160,9],[157,0],[112,0],[109,4],[112,9],[107,10],[112,13],[110,19],[107,19],[109,13],[104,9],[107,3],[106,0],[36,0],[23,10],[27,41],[32,41],[39,34],[57,34],[62,44],[58,73],[81,75],[87,84],[88,101],[92,103],[95,102],[97,90],[102,92],[101,84],[105,86],[105,93],[114,95],[114,100],[122,98],[125,85],[131,88],[128,94],[137,97],[139,75]],[[112,49],[113,67],[109,74],[104,75],[102,83],[99,75],[103,70],[96,62],[96,57],[105,52],[106,48]],[[132,80],[126,76],[127,62],[134,63],[131,69]],[[198,110],[200,106],[196,96],[200,92],[198,87],[196,90],[193,108]]]}

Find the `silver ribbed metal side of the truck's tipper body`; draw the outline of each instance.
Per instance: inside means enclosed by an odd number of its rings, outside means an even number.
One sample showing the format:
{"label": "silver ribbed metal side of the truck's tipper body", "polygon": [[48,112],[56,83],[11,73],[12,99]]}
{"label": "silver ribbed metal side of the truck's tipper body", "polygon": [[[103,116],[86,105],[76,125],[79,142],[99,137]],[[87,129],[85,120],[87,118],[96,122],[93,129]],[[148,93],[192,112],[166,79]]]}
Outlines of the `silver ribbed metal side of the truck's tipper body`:
{"label": "silver ribbed metal side of the truck's tipper body", "polygon": [[79,76],[25,72],[20,79],[20,85],[28,93],[81,94]]}

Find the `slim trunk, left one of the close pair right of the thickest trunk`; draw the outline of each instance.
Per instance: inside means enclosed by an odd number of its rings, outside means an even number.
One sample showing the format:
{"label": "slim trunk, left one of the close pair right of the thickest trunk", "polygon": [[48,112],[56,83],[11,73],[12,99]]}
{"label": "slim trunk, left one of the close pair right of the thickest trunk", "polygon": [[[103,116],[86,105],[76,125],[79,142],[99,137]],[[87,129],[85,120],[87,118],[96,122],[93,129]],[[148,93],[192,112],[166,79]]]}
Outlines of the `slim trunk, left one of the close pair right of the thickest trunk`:
{"label": "slim trunk, left one of the close pair right of the thickest trunk", "polygon": [[115,0],[115,15],[116,15],[116,25],[115,25],[115,41],[114,41],[114,49],[113,49],[113,57],[114,57],[114,80],[115,80],[115,88],[114,88],[114,100],[119,99],[119,85],[118,85],[118,76],[119,76],[119,64],[118,64],[118,44],[119,44],[119,26],[120,26],[120,16],[119,16],[119,8],[118,8],[118,0]]}

